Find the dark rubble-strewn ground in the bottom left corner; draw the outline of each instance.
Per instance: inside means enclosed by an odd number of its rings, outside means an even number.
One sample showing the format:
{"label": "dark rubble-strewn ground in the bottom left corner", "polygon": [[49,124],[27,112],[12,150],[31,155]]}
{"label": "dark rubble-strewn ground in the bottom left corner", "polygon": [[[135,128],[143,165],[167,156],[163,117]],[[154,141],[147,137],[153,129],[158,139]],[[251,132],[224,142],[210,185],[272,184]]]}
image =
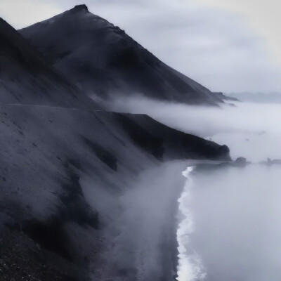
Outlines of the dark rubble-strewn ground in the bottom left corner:
{"label": "dark rubble-strewn ground in the bottom left corner", "polygon": [[24,233],[1,225],[0,233],[1,281],[86,281],[74,277],[71,263],[63,267],[60,259],[42,253]]}

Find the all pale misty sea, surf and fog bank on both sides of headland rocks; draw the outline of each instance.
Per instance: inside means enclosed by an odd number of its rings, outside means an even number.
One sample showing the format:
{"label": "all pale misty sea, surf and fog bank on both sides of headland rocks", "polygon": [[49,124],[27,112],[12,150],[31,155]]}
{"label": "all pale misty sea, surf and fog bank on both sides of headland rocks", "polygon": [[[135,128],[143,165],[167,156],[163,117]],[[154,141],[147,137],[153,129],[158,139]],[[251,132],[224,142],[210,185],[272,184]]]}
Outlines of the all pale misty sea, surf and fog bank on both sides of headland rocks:
{"label": "all pale misty sea, surf and fog bank on both sides of headland rocks", "polygon": [[178,281],[281,279],[281,105],[235,103],[192,107],[144,98],[116,108],[145,113],[181,131],[230,148],[252,162],[192,171],[179,200]]}

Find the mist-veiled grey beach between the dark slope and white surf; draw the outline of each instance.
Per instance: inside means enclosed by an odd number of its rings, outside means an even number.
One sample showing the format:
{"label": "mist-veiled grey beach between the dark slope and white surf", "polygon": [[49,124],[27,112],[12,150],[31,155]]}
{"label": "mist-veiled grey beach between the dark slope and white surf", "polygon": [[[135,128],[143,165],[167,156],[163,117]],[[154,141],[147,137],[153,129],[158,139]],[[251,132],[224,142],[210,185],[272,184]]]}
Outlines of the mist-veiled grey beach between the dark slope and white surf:
{"label": "mist-veiled grey beach between the dark slope and white surf", "polygon": [[[83,183],[90,204],[102,204],[101,219],[107,218],[100,227],[105,247],[100,258],[103,262],[98,262],[96,269],[101,274],[99,280],[172,280],[177,255],[175,214],[185,166],[185,161],[150,164],[129,180],[118,197],[115,193],[112,197],[99,195],[103,187],[97,192],[93,183]],[[96,259],[92,263],[97,266]]]}

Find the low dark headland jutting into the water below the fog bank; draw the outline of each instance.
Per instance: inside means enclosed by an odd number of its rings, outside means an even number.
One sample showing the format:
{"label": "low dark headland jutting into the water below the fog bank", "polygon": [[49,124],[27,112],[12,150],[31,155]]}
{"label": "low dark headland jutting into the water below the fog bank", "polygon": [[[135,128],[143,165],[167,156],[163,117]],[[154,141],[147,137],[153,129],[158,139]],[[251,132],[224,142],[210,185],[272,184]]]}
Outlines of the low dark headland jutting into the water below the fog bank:
{"label": "low dark headland jutting into the water below the fog bank", "polygon": [[[149,147],[153,155],[162,159],[216,159],[230,161],[229,148],[165,126],[148,115],[118,115],[124,129],[144,147]],[[139,136],[139,137],[138,137]],[[141,141],[142,139],[145,139]],[[145,144],[145,141],[149,144]],[[151,146],[152,145],[152,146]],[[165,153],[164,153],[165,152]]]}

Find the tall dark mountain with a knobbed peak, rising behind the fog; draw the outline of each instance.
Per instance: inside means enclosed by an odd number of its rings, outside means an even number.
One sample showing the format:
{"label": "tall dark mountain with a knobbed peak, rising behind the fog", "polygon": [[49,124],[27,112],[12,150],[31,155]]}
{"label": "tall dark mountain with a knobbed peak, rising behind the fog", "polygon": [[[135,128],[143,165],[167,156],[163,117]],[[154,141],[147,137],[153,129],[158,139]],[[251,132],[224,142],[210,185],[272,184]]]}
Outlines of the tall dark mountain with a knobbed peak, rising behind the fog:
{"label": "tall dark mountain with a knobbed peak, rising behind the fog", "polygon": [[222,102],[85,5],[20,33],[89,96],[139,94],[190,104]]}

